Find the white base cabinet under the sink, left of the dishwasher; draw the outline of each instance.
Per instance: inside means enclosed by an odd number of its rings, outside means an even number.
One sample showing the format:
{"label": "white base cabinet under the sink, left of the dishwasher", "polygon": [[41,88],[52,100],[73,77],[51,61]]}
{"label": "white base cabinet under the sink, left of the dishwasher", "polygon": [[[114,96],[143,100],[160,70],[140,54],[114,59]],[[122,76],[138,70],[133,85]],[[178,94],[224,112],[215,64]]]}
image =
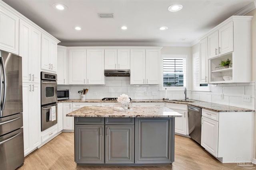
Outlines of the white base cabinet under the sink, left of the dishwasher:
{"label": "white base cabinet under the sink, left of the dishwasher", "polygon": [[182,114],[182,117],[175,117],[175,134],[188,135],[188,110],[186,104],[167,103],[166,107]]}

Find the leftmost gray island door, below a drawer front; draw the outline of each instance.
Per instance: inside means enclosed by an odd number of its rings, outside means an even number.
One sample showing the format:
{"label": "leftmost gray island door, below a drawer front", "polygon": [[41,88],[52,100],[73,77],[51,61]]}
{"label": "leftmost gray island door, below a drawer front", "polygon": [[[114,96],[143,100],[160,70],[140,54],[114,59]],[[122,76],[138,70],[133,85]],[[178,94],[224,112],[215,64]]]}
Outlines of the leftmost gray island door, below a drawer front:
{"label": "leftmost gray island door, below a drawer front", "polygon": [[76,125],[75,128],[75,162],[104,164],[104,125]]}

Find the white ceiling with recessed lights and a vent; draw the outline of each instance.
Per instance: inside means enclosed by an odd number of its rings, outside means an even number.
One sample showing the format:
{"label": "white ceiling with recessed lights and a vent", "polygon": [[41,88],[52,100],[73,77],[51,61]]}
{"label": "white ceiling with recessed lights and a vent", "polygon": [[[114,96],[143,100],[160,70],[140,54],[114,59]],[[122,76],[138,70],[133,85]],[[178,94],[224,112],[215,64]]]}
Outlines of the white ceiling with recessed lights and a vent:
{"label": "white ceiling with recessed lights and a vent", "polygon": [[[254,0],[3,0],[61,42],[190,44]],[[68,6],[59,11],[54,3]],[[182,4],[179,12],[168,6]],[[101,19],[98,13],[114,13]],[[120,27],[126,25],[127,30]],[[82,29],[76,31],[74,27]],[[167,26],[166,31],[159,27]],[[181,40],[186,38],[186,40]]]}

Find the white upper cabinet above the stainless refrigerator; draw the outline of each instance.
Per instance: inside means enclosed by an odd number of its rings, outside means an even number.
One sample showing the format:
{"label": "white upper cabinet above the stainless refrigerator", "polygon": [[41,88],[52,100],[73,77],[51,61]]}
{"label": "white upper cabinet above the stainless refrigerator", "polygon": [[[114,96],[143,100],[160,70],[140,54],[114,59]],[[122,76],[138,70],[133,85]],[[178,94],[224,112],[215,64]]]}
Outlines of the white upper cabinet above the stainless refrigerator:
{"label": "white upper cabinet above the stainless refrigerator", "polygon": [[18,54],[19,18],[0,3],[0,49]]}

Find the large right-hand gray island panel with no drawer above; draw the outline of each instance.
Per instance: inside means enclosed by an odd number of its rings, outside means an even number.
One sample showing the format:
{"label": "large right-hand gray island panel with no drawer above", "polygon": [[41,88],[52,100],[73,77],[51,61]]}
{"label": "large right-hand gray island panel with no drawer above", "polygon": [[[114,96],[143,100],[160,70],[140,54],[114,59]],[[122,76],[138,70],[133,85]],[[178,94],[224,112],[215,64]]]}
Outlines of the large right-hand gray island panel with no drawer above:
{"label": "large right-hand gray island panel with no drawer above", "polygon": [[174,161],[174,118],[136,118],[135,163]]}

